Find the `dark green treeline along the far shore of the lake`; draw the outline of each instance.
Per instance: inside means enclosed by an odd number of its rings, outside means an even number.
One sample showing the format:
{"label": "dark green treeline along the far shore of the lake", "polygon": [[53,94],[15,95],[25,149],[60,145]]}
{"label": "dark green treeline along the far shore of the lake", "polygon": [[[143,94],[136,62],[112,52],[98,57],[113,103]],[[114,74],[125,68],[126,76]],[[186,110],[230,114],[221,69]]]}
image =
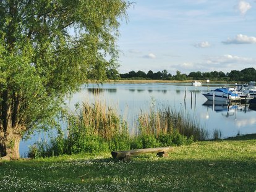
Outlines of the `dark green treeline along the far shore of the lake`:
{"label": "dark green treeline along the far shore of the lake", "polygon": [[152,72],[149,70],[147,73],[138,70],[134,70],[129,73],[118,73],[117,70],[108,70],[107,76],[109,79],[129,79],[129,80],[223,80],[223,81],[251,81],[256,80],[256,70],[253,67],[243,70],[231,70],[231,72],[224,73],[222,71],[217,72],[190,72],[189,75],[176,71],[176,75],[168,73],[167,70]]}

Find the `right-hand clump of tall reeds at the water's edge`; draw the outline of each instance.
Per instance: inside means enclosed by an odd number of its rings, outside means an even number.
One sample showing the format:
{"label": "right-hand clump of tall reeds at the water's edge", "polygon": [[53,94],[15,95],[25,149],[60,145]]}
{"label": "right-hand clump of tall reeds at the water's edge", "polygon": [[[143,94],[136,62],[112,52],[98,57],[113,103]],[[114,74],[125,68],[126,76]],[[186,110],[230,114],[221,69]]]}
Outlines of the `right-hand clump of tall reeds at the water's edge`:
{"label": "right-hand clump of tall reeds at the water's edge", "polygon": [[207,140],[208,133],[200,126],[198,120],[190,117],[183,111],[176,111],[168,105],[151,107],[150,112],[141,112],[139,115],[139,130],[145,135],[168,135],[180,133],[194,140]]}

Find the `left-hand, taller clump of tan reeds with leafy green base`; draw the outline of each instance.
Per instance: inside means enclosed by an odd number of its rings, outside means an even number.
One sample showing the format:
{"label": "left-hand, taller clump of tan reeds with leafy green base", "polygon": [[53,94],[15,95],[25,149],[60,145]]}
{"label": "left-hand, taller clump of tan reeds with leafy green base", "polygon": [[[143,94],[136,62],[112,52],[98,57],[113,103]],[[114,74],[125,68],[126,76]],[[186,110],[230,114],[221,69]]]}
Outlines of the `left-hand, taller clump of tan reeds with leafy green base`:
{"label": "left-hand, taller clump of tan reeds with leafy green base", "polygon": [[68,131],[69,153],[129,148],[126,121],[116,109],[100,100],[92,104],[83,102],[76,114],[69,115]]}

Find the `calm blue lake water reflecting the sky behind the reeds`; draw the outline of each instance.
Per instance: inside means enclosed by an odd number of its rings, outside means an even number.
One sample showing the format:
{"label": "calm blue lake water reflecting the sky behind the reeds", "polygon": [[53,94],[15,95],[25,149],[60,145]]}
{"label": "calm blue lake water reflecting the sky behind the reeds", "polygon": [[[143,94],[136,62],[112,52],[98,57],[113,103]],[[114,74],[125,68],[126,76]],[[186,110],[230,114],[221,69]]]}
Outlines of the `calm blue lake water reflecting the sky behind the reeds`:
{"label": "calm blue lake water reflecting the sky behind the reeds", "polygon": [[[216,86],[210,85],[213,90]],[[190,83],[104,83],[89,84],[81,87],[67,101],[70,110],[74,111],[76,103],[93,102],[100,99],[117,109],[129,123],[130,130],[135,127],[140,111],[147,112],[150,106],[163,104],[184,111],[200,122],[209,133],[221,131],[221,138],[256,133],[256,111],[248,105],[215,105],[209,103],[202,95],[207,85],[191,86]],[[186,93],[186,97],[185,97]],[[35,143],[46,135],[35,135],[31,140],[20,143],[20,155],[28,151],[28,145]],[[47,136],[46,136],[47,137]]]}

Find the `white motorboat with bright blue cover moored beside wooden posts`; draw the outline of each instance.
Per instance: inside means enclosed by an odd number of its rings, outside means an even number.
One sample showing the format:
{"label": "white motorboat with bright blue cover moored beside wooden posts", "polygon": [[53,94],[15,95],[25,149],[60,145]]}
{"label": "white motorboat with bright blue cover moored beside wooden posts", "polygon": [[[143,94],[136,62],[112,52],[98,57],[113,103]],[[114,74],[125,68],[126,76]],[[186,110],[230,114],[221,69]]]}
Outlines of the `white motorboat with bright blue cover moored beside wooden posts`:
{"label": "white motorboat with bright blue cover moored beside wooden posts", "polygon": [[202,93],[205,98],[211,101],[229,101],[241,99],[237,93],[232,93],[226,88],[217,88],[216,90],[207,91]]}

